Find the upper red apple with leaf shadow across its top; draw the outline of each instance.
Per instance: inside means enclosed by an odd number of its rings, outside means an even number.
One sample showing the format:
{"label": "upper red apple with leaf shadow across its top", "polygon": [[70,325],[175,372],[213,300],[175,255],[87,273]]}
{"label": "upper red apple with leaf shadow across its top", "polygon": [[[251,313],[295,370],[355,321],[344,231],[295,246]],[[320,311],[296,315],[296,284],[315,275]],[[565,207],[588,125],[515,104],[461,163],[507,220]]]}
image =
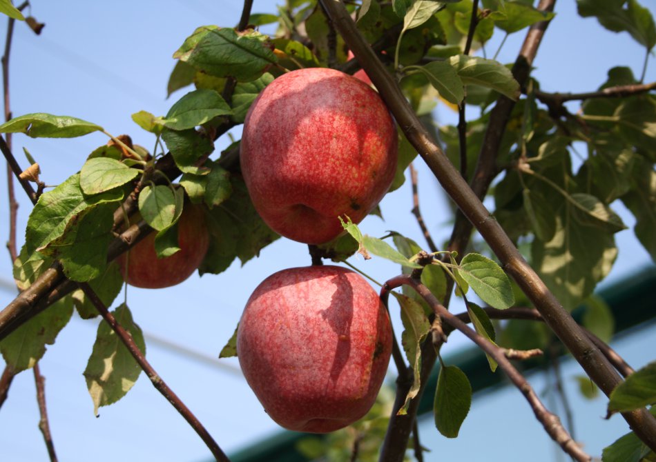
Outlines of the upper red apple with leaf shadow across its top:
{"label": "upper red apple with leaf shadow across its top", "polygon": [[253,101],[240,161],[251,200],[271,229],[320,244],[362,221],[394,179],[397,134],[378,93],[344,72],[282,74]]}

